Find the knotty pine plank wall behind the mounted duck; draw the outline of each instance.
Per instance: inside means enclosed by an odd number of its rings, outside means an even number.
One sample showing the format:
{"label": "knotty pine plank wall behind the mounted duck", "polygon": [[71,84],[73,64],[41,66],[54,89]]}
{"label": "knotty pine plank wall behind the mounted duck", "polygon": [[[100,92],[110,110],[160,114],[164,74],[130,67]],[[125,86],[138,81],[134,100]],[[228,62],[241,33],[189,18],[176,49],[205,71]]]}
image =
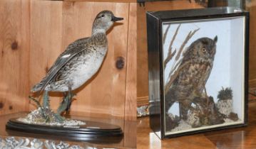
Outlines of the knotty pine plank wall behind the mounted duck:
{"label": "knotty pine plank wall behind the mounted duck", "polygon": [[[106,59],[93,79],[76,91],[77,100],[73,101],[71,114],[135,120],[136,26],[135,22],[129,23],[129,19],[135,21],[136,4],[39,0],[4,0],[0,4],[0,21],[7,26],[0,24],[3,33],[0,35],[3,50],[0,50],[4,53],[0,53],[4,55],[0,57],[0,114],[8,113],[5,105],[1,111],[1,103],[11,105],[13,101],[21,104],[16,111],[36,109],[33,102],[28,104],[31,87],[41,81],[69,43],[91,36],[96,14],[108,9],[124,20],[108,31]],[[18,49],[10,50],[15,40],[19,43]],[[120,70],[116,67],[118,60],[124,63]],[[51,94],[53,109],[57,109],[61,98],[61,94]],[[129,112],[132,109],[133,112]]]}

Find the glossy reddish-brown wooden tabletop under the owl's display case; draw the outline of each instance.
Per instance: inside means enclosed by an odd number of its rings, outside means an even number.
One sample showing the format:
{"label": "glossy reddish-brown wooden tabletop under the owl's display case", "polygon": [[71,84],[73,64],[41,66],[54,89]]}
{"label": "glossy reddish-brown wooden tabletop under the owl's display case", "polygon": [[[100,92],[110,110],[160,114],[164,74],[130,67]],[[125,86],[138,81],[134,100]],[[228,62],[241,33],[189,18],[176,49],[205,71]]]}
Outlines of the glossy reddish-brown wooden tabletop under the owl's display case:
{"label": "glossy reddish-brown wooden tabletop under the owl's display case", "polygon": [[256,148],[256,102],[249,104],[247,127],[160,140],[149,128],[149,118],[138,118],[137,148]]}

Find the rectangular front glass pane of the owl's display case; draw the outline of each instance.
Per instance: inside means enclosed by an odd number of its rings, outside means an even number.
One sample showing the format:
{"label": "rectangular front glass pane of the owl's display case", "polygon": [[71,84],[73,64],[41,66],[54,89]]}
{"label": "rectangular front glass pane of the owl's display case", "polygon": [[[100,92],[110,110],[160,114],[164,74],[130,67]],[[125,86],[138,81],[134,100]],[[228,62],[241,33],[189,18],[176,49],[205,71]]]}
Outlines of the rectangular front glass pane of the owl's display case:
{"label": "rectangular front glass pane of the owl's display case", "polygon": [[244,123],[245,17],[162,24],[165,134]]}

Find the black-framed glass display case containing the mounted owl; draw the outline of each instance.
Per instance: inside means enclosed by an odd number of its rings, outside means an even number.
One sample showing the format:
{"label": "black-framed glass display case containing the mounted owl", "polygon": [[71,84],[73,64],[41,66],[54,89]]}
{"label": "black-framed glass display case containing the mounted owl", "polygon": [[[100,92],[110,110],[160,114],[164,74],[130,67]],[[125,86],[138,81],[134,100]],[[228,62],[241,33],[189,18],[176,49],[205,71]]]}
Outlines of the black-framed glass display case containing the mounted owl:
{"label": "black-framed glass display case containing the mounted owl", "polygon": [[249,13],[147,13],[150,126],[160,138],[247,123]]}

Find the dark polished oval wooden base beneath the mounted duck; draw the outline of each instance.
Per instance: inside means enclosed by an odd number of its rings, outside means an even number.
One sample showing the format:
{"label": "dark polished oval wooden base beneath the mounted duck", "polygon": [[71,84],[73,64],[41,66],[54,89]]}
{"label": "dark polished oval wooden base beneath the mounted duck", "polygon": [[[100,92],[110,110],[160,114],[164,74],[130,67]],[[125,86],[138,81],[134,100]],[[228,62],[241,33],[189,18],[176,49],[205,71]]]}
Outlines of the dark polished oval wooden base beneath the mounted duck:
{"label": "dark polished oval wooden base beneath the mounted duck", "polygon": [[[6,123],[6,129],[26,133],[40,133],[71,138],[72,140],[106,140],[114,137],[115,142],[123,138],[121,127],[94,121],[85,121],[86,125],[78,127],[46,126],[23,123],[11,118]],[[118,139],[119,138],[119,139]]]}

